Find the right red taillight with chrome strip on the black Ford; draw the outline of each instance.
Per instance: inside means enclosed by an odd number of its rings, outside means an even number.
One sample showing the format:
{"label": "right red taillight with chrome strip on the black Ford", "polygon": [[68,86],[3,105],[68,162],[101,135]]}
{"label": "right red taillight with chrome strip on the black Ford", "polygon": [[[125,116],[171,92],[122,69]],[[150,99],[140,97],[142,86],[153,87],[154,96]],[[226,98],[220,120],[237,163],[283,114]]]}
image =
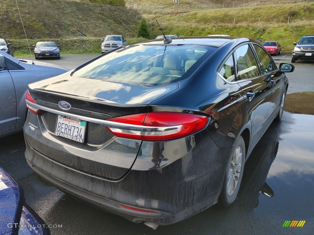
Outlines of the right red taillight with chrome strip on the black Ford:
{"label": "right red taillight with chrome strip on the black Ford", "polygon": [[[110,118],[107,121],[124,124],[118,128],[107,127],[118,137],[163,141],[202,130],[208,123],[208,117],[180,112],[149,112]],[[136,128],[132,130],[132,127]]]}

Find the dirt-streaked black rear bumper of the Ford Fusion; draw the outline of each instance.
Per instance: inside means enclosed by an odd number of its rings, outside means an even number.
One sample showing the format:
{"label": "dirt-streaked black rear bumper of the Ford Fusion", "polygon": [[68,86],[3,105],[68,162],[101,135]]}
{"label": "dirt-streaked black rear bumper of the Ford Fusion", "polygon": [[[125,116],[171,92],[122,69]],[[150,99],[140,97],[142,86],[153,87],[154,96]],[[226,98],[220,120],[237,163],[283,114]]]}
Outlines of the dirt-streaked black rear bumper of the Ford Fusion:
{"label": "dirt-streaked black rear bumper of the Ford Fusion", "polygon": [[[47,138],[41,128],[30,129],[29,122],[40,127],[35,119],[29,113],[24,125],[28,164],[79,200],[132,222],[161,225],[179,222],[217,203],[231,148],[219,149],[207,129],[169,142],[143,141],[131,169],[112,180],[52,159],[54,154],[42,154],[45,141],[34,149],[31,144],[37,146],[38,139]],[[59,143],[50,145],[55,151],[61,149]]]}

